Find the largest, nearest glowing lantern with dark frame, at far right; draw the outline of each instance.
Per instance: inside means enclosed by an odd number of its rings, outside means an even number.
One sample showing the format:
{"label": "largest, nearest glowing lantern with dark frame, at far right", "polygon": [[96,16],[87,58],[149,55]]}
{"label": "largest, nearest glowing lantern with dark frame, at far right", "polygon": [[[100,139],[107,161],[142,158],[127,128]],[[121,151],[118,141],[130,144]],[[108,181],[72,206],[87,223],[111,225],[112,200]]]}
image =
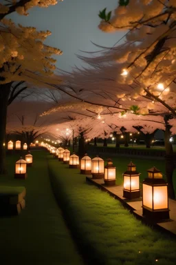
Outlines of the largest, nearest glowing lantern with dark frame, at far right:
{"label": "largest, nearest glowing lantern with dark frame, at far right", "polygon": [[161,171],[155,166],[147,172],[148,177],[142,184],[142,214],[154,222],[159,219],[168,219],[168,184],[162,179]]}

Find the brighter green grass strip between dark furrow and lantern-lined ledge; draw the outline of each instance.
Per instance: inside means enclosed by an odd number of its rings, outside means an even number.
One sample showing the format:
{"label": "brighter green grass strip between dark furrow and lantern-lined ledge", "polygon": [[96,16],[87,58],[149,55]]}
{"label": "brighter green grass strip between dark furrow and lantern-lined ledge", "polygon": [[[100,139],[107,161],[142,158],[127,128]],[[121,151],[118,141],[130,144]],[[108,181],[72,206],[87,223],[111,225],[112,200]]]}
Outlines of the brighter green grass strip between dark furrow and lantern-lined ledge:
{"label": "brighter green grass strip between dark furrow and lantern-lined ledge", "polygon": [[156,259],[175,264],[175,239],[135,219],[120,202],[87,184],[79,170],[52,157],[48,161],[54,192],[89,264],[152,265]]}

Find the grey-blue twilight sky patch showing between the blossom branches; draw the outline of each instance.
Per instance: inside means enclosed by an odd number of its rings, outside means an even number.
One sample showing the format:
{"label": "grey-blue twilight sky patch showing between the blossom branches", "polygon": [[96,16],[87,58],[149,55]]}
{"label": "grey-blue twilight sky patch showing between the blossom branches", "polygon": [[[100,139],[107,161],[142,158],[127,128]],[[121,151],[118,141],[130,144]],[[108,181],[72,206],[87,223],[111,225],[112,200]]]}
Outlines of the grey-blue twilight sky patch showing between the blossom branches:
{"label": "grey-blue twilight sky patch showing between the blossom branches", "polygon": [[28,17],[17,13],[10,15],[15,23],[23,26],[34,26],[37,30],[50,30],[52,35],[45,43],[63,50],[56,66],[62,70],[72,70],[74,65],[83,62],[76,54],[79,50],[93,52],[98,50],[94,43],[102,46],[113,46],[124,33],[104,33],[98,29],[99,10],[107,7],[113,10],[118,0],[63,0],[50,8],[32,8]]}

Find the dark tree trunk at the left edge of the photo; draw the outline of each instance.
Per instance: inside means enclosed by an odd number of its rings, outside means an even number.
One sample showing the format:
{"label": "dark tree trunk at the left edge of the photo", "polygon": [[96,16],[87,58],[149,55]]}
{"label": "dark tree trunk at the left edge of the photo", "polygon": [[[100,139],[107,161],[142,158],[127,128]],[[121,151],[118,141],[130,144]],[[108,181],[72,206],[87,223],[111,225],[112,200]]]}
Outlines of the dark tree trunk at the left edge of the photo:
{"label": "dark tree trunk at the left edge of the photo", "polygon": [[10,87],[12,82],[8,84],[0,85],[0,174],[5,174],[7,172],[5,166],[5,129],[7,121],[7,112],[8,112],[8,97],[10,94]]}

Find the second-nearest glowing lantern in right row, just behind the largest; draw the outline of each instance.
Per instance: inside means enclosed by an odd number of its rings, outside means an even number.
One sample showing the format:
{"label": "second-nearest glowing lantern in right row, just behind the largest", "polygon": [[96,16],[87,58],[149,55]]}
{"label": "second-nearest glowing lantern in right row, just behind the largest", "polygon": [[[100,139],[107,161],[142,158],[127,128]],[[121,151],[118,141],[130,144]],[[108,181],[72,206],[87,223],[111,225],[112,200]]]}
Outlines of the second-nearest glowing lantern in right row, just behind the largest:
{"label": "second-nearest glowing lantern in right row, just behind the largest", "polygon": [[140,197],[140,173],[136,171],[136,166],[132,162],[127,166],[123,174],[124,189],[123,197],[135,199]]}

